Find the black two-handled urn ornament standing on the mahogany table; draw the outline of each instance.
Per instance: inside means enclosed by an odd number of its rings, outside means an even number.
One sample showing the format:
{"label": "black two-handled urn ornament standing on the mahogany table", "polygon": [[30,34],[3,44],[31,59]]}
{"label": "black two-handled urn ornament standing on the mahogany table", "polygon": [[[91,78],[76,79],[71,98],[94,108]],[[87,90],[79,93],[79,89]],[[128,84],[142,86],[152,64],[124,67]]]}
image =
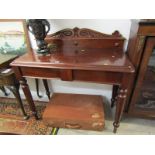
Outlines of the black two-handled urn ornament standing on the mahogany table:
{"label": "black two-handled urn ornament standing on the mahogany table", "polygon": [[37,53],[46,55],[49,53],[45,37],[50,30],[50,24],[46,19],[29,19],[27,21],[28,30],[34,35],[38,46]]}

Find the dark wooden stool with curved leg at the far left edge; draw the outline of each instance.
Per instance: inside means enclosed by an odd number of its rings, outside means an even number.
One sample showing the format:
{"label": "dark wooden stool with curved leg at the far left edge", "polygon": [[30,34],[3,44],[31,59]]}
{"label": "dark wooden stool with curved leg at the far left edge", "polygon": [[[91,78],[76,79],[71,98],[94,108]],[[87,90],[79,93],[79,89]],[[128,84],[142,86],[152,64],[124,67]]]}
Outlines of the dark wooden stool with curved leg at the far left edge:
{"label": "dark wooden stool with curved leg at the far left edge", "polygon": [[4,86],[6,86],[16,97],[18,104],[22,110],[24,115],[24,119],[28,119],[29,116],[26,114],[24,110],[24,106],[19,94],[19,82],[17,81],[15,74],[11,68],[0,70],[0,88],[3,92],[5,92]]}

